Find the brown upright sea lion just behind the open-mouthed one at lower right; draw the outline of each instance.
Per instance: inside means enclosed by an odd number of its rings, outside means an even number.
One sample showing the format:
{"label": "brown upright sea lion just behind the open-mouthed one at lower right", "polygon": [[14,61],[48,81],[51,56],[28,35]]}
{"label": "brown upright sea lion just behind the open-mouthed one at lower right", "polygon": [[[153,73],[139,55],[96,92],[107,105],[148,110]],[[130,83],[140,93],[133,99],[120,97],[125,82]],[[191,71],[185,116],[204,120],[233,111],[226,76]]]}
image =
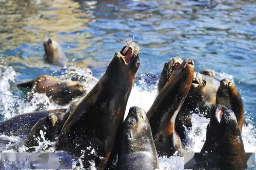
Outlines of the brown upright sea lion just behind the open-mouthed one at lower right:
{"label": "brown upright sea lion just behind the open-mouthed one at lower right", "polygon": [[244,104],[243,99],[235,88],[234,84],[227,78],[221,80],[220,87],[216,94],[216,104],[225,105],[232,110],[237,117],[239,129],[242,132],[244,122]]}

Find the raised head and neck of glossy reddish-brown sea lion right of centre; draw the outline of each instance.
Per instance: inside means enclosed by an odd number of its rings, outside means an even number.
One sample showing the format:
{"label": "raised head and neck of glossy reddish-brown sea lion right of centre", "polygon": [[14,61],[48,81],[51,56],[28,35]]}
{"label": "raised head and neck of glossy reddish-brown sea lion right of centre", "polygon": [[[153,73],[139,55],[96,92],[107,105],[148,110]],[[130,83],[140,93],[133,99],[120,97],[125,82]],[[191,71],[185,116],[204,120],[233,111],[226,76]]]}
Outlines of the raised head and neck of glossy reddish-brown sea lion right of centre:
{"label": "raised head and neck of glossy reddish-brown sea lion right of centre", "polygon": [[185,59],[182,65],[171,74],[156,97],[147,113],[153,137],[159,131],[165,133],[165,137],[174,132],[175,118],[189,92],[193,72],[193,61]]}

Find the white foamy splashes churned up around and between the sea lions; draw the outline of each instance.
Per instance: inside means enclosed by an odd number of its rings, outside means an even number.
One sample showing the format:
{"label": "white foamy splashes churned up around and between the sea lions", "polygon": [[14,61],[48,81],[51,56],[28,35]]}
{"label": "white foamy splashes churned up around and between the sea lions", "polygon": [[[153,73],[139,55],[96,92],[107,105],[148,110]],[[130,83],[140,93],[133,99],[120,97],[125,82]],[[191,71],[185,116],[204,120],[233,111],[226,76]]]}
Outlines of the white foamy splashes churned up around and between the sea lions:
{"label": "white foamy splashes churned up around and between the sea lions", "polygon": [[[81,77],[79,70],[75,70],[75,72],[78,72],[78,77]],[[26,102],[23,101],[23,99],[19,99],[18,96],[14,96],[11,93],[11,86],[9,82],[13,82],[16,76],[13,69],[9,67],[0,66],[0,74],[0,85],[1,87],[3,87],[2,89],[0,89],[0,110],[2,110],[2,113],[5,116],[5,118],[10,118],[13,115],[34,111],[38,109],[38,105],[44,105],[44,110],[60,109],[59,105],[52,103],[50,99],[44,94],[35,94],[30,102]],[[233,80],[232,76],[227,75],[225,73],[217,74],[217,76],[219,79],[229,78]],[[92,84],[90,85],[91,88],[93,86],[94,85]],[[141,107],[147,112],[151,107],[152,103],[154,102],[156,95],[156,87],[149,87],[148,89],[141,87],[145,87],[145,82],[140,81],[139,83],[134,84],[134,87],[132,88],[127,103],[125,117],[127,116],[130,107]],[[17,104],[16,107],[14,107],[14,104]],[[188,152],[201,151],[201,148],[203,147],[205,141],[206,127],[208,123],[209,119],[203,117],[202,115],[192,115],[192,128],[188,132],[189,146],[186,148]],[[43,139],[42,135],[44,136],[44,134],[41,134],[41,139]],[[0,135],[0,139],[1,137],[3,138],[4,136]],[[252,125],[249,124],[248,126],[243,127],[242,139],[244,142],[246,152],[256,152],[255,130]],[[13,143],[19,143],[20,141],[16,137],[12,137],[12,139],[10,138],[10,140],[12,140]],[[43,143],[41,143],[40,146],[36,147],[35,149],[37,152],[41,152],[43,151],[42,148],[44,148],[44,146],[53,144],[54,143],[52,142],[43,140]],[[11,147],[6,147],[5,149],[5,152],[13,152]],[[19,152],[26,152],[26,150],[27,148],[24,145],[18,148]],[[51,152],[53,152],[53,150]],[[75,165],[77,162],[79,162],[80,164],[82,163],[81,159],[74,160],[73,165]],[[178,156],[171,156],[169,158],[160,157],[159,164],[160,169],[184,169],[184,158]],[[77,169],[79,169],[79,167],[80,166],[78,166]]]}

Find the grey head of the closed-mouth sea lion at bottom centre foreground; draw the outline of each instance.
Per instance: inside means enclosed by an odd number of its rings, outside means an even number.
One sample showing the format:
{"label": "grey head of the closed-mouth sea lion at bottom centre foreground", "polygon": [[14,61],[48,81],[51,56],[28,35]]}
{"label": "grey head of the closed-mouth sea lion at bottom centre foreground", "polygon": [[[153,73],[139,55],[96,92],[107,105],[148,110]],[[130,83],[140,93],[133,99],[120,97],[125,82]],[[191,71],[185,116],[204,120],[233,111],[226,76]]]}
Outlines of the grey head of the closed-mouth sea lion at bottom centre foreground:
{"label": "grey head of the closed-mouth sea lion at bottom centre foreground", "polygon": [[[128,141],[144,142],[141,138],[149,131],[151,133],[150,124],[146,112],[139,107],[131,107],[123,123],[123,133]],[[152,135],[151,135],[152,136]]]}

